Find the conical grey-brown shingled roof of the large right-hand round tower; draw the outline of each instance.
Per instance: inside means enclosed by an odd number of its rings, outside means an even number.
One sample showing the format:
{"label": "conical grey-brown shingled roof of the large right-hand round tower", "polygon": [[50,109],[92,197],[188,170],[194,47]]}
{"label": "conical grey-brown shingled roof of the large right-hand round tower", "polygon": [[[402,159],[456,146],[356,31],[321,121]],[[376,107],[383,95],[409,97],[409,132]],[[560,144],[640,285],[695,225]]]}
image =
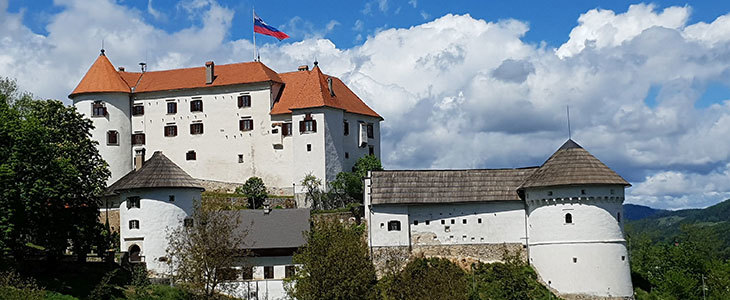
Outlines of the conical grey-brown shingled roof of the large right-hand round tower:
{"label": "conical grey-brown shingled roof of the large right-hand round tower", "polygon": [[631,186],[598,158],[569,139],[520,188],[576,184]]}

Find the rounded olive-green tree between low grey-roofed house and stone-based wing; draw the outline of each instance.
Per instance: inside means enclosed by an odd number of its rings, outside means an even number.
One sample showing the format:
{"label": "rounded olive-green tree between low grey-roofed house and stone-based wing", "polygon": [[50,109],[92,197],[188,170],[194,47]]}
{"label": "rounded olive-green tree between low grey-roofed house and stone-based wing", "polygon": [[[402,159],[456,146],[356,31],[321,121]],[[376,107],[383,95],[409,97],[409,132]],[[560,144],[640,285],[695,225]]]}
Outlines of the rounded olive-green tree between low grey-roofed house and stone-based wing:
{"label": "rounded olive-green tree between low grey-roofed house and stone-based wing", "polygon": [[336,221],[318,221],[307,244],[294,254],[300,264],[286,279],[289,296],[309,299],[373,299],[375,267],[363,239],[364,228]]}

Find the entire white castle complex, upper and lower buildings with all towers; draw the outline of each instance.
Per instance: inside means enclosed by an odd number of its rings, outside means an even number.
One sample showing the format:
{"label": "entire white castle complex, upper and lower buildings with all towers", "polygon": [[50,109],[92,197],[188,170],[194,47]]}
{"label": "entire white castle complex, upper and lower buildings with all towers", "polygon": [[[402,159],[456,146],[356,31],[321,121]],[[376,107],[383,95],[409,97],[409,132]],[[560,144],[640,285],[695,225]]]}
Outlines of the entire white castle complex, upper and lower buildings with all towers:
{"label": "entire white castle complex, upper and lower buildings with all towers", "polygon": [[[281,74],[261,62],[127,72],[102,50],[69,98],[93,121],[111,169],[121,250],[158,274],[168,268],[163,230],[192,226],[204,189],[258,176],[296,195],[308,174],[330,182],[359,157],[380,156],[382,117],[316,62]],[[375,171],[364,185],[376,266],[391,250],[469,263],[499,261],[506,249],[562,297],[633,295],[621,218],[630,184],[573,140],[539,167]],[[237,295],[285,298],[309,211],[241,214],[255,220],[248,247],[259,256],[230,279]]]}

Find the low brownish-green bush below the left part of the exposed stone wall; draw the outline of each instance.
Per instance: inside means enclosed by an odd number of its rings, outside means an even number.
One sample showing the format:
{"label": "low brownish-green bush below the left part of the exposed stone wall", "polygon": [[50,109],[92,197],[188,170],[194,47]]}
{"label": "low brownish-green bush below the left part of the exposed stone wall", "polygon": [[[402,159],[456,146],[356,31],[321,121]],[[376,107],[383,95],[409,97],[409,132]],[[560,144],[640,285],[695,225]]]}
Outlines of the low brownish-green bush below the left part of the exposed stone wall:
{"label": "low brownish-green bush below the left part of the exposed stone wall", "polygon": [[416,258],[397,274],[378,282],[383,299],[467,299],[469,281],[459,266],[444,258]]}

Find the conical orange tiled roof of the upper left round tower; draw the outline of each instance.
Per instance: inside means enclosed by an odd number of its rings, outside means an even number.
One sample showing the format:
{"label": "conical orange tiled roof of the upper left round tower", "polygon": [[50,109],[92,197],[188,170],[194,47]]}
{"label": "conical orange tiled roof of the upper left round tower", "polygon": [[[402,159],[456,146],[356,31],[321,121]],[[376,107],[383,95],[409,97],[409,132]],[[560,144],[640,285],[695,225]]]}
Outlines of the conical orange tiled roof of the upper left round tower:
{"label": "conical orange tiled roof of the upper left round tower", "polygon": [[114,66],[102,52],[81,79],[69,97],[86,93],[129,93],[129,85],[122,80]]}

